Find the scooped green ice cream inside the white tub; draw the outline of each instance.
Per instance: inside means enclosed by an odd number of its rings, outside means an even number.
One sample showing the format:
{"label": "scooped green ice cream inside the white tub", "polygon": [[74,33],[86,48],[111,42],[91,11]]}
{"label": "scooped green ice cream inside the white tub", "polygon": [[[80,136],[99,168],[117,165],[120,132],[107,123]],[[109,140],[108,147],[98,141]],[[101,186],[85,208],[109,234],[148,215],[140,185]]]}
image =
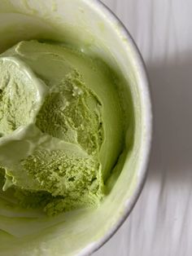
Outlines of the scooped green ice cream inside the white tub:
{"label": "scooped green ice cream inside the white tub", "polygon": [[54,42],[0,55],[2,190],[48,215],[97,206],[123,144],[116,77]]}

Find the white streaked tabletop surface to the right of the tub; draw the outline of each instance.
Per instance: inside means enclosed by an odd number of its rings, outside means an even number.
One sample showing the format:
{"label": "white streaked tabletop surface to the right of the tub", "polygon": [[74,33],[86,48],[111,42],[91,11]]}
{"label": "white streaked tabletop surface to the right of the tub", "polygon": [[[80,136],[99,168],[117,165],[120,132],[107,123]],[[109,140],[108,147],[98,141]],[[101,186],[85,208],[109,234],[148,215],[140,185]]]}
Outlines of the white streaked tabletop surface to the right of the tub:
{"label": "white streaked tabletop surface to the right of the tub", "polygon": [[124,22],[146,62],[155,134],[142,195],[94,256],[191,256],[192,1],[103,2]]}

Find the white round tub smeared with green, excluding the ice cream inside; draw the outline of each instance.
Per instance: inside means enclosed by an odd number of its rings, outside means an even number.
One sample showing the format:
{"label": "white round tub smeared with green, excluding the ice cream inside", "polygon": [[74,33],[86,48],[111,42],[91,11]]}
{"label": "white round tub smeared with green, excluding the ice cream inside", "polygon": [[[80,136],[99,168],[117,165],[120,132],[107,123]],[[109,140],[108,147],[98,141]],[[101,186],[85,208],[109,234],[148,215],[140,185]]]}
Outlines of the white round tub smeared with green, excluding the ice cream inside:
{"label": "white round tub smeared with green, excluding the ice cream inside", "polygon": [[[110,194],[98,210],[80,210],[59,217],[58,225],[30,230],[20,218],[20,237],[7,236],[11,250],[3,255],[87,255],[102,246],[129,216],[142,191],[151,149],[151,98],[142,57],[129,32],[96,0],[2,0],[0,51],[16,42],[53,38],[101,55],[124,76],[124,98],[133,100],[134,136]],[[127,96],[126,96],[127,94]],[[129,144],[129,131],[126,142]],[[47,220],[45,220],[47,221]],[[1,229],[0,224],[0,229]],[[6,227],[4,226],[6,229]],[[7,229],[7,233],[10,231]],[[30,242],[27,237],[30,236]],[[0,241],[0,244],[2,241]],[[1,245],[0,245],[1,248]],[[1,249],[2,251],[2,249]]]}

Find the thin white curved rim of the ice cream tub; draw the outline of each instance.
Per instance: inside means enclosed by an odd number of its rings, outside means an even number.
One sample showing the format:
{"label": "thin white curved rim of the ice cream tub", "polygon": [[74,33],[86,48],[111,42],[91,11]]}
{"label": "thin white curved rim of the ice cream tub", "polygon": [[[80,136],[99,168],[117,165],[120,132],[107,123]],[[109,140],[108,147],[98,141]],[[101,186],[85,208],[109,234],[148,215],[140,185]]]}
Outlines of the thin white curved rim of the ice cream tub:
{"label": "thin white curved rim of the ice cream tub", "polygon": [[129,197],[129,204],[124,207],[124,214],[117,220],[116,224],[103,236],[102,239],[95,241],[93,244],[88,245],[85,250],[83,249],[79,255],[85,256],[89,254],[93,254],[95,251],[100,249],[107,241],[111,239],[111,237],[117,232],[117,230],[124,223],[126,218],[128,218],[129,214],[133,210],[134,205],[137,202],[138,197],[142,192],[142,188],[144,187],[144,183],[146,181],[147,170],[149,166],[150,156],[151,156],[151,143],[152,143],[152,134],[153,134],[153,115],[152,115],[152,107],[151,107],[151,90],[149,78],[146,71],[146,65],[144,60],[142,59],[142,54],[137,48],[136,43],[134,42],[129,30],[124,26],[123,22],[117,17],[117,15],[111,11],[106,4],[104,4],[101,0],[84,0],[88,5],[94,5],[98,8],[99,11],[104,13],[107,17],[107,20],[111,20],[112,23],[118,22],[120,35],[123,35],[124,38],[128,39],[129,47],[131,48],[134,59],[137,62],[137,70],[139,73],[139,77],[142,79],[142,96],[143,103],[146,106],[146,115],[144,117],[143,124],[145,124],[145,143],[143,145],[143,157],[142,163],[140,166],[140,173],[137,179],[137,185],[134,189],[133,195]]}

